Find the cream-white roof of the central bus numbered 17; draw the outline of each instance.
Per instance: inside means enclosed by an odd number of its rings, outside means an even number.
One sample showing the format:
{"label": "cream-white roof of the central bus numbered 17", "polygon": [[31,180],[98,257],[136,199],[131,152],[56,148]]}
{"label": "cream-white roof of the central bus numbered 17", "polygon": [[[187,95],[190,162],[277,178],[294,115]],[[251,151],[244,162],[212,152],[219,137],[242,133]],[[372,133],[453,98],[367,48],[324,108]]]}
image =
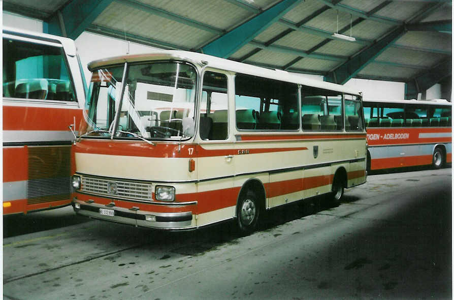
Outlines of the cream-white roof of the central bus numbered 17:
{"label": "cream-white roof of the central bus numbered 17", "polygon": [[262,67],[252,66],[249,64],[239,63],[231,61],[229,59],[220,58],[216,56],[211,56],[207,54],[190,52],[190,51],[180,51],[180,50],[161,50],[156,52],[144,53],[144,54],[129,54],[116,57],[109,57],[104,59],[99,59],[88,64],[88,69],[91,71],[93,69],[107,66],[107,65],[116,65],[122,64],[125,62],[144,62],[150,60],[168,60],[168,59],[179,59],[181,61],[188,61],[198,66],[207,65],[210,68],[232,71],[236,73],[243,73],[249,75],[255,75],[260,77],[266,77],[276,80],[282,80],[287,82],[305,84],[313,87],[330,89],[333,91],[347,93],[352,95],[359,95],[358,91],[355,91],[351,88],[346,88],[342,85],[324,82],[319,80],[307,79],[300,75],[289,73],[281,70],[271,70]]}

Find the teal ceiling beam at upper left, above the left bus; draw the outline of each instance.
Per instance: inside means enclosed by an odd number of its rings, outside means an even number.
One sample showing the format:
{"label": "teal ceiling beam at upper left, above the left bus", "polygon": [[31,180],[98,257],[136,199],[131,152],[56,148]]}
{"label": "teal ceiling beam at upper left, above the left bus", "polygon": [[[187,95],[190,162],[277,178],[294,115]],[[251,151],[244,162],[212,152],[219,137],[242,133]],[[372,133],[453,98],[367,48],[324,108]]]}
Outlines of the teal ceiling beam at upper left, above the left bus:
{"label": "teal ceiling beam at upper left, above the left bus", "polygon": [[43,23],[43,31],[75,40],[113,0],[73,0]]}

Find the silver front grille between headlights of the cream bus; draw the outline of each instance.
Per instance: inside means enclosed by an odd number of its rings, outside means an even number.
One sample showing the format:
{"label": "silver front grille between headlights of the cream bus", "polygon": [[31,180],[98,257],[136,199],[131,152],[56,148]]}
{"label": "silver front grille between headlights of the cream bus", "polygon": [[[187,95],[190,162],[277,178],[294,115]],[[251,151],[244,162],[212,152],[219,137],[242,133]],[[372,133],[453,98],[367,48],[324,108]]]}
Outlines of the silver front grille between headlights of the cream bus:
{"label": "silver front grille between headlights of the cream bus", "polygon": [[[109,185],[116,185],[115,191],[109,192]],[[81,191],[107,197],[151,201],[153,189],[151,184],[82,176]]]}

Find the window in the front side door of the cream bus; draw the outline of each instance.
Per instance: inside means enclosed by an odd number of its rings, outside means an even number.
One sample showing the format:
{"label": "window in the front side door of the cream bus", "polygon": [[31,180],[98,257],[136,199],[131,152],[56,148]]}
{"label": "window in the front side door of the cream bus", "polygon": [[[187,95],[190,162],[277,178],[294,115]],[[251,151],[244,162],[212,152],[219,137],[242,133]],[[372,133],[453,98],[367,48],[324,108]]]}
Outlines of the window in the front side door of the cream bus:
{"label": "window in the front side door of the cream bus", "polygon": [[216,72],[205,72],[200,103],[199,134],[203,140],[228,138],[227,77]]}

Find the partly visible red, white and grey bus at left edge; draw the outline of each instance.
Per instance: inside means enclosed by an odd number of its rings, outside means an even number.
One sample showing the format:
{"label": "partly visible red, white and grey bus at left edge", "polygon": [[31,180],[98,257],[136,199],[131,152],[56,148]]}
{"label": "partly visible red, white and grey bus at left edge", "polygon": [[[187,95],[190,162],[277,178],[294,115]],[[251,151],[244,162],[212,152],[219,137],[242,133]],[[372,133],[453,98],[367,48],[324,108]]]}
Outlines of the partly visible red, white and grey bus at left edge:
{"label": "partly visible red, white and grey bus at left edge", "polygon": [[73,40],[3,28],[4,215],[71,204],[82,76]]}

